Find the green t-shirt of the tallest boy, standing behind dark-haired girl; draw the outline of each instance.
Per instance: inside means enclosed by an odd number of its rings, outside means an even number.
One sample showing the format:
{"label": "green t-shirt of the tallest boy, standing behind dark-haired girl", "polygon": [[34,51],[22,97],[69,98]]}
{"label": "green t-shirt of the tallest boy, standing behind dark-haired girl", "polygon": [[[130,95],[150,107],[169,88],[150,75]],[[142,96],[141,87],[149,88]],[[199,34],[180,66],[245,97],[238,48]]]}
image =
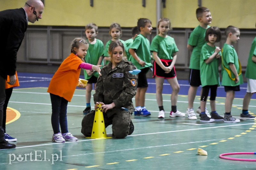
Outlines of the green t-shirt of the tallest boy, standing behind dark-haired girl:
{"label": "green t-shirt of the tallest boy, standing behind dark-haired girl", "polygon": [[[207,28],[210,26],[208,25]],[[198,25],[190,34],[188,39],[188,44],[193,47],[193,51],[190,57],[190,64],[189,68],[192,69],[200,69],[200,56],[201,56],[201,49],[202,46],[206,43],[204,40],[205,31],[207,30]]]}

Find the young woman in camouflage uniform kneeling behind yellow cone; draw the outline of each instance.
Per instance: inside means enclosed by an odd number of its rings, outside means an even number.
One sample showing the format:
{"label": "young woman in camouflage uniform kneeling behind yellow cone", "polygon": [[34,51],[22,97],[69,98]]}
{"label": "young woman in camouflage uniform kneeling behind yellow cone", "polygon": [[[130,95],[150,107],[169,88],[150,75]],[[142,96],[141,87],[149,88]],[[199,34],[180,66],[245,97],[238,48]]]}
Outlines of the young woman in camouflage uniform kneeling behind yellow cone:
{"label": "young woman in camouflage uniform kneeling behind yellow cone", "polygon": [[[111,62],[103,66],[93,95],[95,110],[98,104],[103,111],[105,127],[112,124],[112,137],[124,138],[132,134],[134,127],[131,121],[133,112],[132,97],[136,94],[137,75],[129,71],[136,69],[126,56],[124,45],[113,41],[108,48]],[[81,132],[91,136],[95,111],[87,114],[82,121]]]}

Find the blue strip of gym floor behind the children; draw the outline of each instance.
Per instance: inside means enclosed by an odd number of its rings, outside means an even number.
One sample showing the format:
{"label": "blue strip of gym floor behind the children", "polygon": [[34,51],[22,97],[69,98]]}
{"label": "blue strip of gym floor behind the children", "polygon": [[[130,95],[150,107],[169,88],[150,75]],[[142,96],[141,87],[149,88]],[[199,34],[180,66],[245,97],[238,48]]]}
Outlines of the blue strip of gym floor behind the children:
{"label": "blue strip of gym floor behind the children", "polygon": [[[16,88],[33,88],[33,87],[48,87],[53,74],[39,74],[39,73],[18,73],[20,87]],[[84,78],[84,76],[80,76]],[[180,95],[188,95],[188,80],[178,80],[180,84]],[[240,85],[239,92],[236,92],[236,98],[244,98],[246,93],[247,83]],[[197,96],[200,96],[201,87],[197,89]],[[148,79],[148,90],[147,93],[156,93],[156,83],[154,78]],[[172,88],[169,83],[164,81],[163,94],[171,94]],[[217,97],[226,97],[224,87],[220,86],[217,90]],[[252,99],[256,99],[256,95],[252,96]]]}

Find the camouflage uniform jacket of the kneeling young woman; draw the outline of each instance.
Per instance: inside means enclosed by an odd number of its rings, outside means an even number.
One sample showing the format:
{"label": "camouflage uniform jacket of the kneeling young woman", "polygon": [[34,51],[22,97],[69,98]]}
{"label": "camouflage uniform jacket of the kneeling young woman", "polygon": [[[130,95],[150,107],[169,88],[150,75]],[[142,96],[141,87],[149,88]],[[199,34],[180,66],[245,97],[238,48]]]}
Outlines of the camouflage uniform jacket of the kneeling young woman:
{"label": "camouflage uniform jacket of the kneeling young woman", "polygon": [[99,76],[94,103],[103,102],[104,104],[115,103],[116,107],[107,111],[110,117],[115,110],[125,107],[130,113],[133,111],[132,97],[136,94],[138,76],[130,74],[129,71],[137,69],[132,62],[122,60],[115,68],[111,68],[109,62],[103,66]]}

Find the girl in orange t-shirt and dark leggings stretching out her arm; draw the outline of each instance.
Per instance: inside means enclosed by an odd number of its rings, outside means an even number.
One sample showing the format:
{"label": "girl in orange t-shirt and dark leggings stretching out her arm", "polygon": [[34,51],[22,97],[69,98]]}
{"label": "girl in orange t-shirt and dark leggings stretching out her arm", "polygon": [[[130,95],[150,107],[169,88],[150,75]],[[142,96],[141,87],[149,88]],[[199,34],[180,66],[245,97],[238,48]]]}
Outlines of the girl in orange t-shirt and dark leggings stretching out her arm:
{"label": "girl in orange t-shirt and dark leggings stretching out her arm", "polygon": [[[96,70],[100,74],[100,67],[102,66],[84,63],[81,60],[84,59],[88,47],[88,42],[85,39],[74,39],[71,45],[71,54],[61,63],[49,84],[47,92],[50,93],[52,103],[53,142],[64,143],[65,141],[78,140],[68,132],[68,102],[71,102],[75,92],[81,68]],[[79,87],[82,86],[82,84],[79,85]]]}

